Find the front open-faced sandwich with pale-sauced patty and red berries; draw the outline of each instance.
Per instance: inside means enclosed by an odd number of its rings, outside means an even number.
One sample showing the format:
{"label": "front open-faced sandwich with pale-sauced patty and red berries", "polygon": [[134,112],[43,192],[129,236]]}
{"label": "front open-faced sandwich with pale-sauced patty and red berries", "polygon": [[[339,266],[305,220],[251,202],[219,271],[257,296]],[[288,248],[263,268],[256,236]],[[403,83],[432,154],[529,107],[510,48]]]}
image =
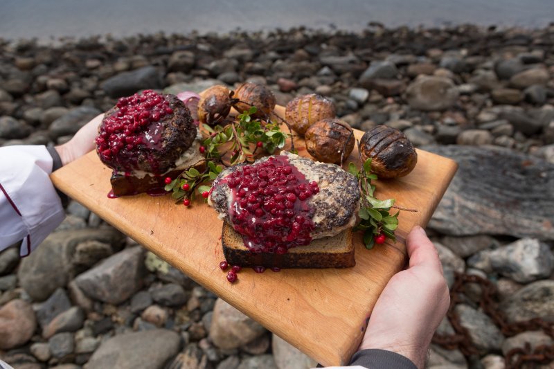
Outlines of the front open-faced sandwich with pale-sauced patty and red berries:
{"label": "front open-faced sandwich with pale-sauced patty and red berries", "polygon": [[357,179],[338,165],[283,152],[235,165],[208,204],[224,219],[226,262],[241,267],[353,267]]}

